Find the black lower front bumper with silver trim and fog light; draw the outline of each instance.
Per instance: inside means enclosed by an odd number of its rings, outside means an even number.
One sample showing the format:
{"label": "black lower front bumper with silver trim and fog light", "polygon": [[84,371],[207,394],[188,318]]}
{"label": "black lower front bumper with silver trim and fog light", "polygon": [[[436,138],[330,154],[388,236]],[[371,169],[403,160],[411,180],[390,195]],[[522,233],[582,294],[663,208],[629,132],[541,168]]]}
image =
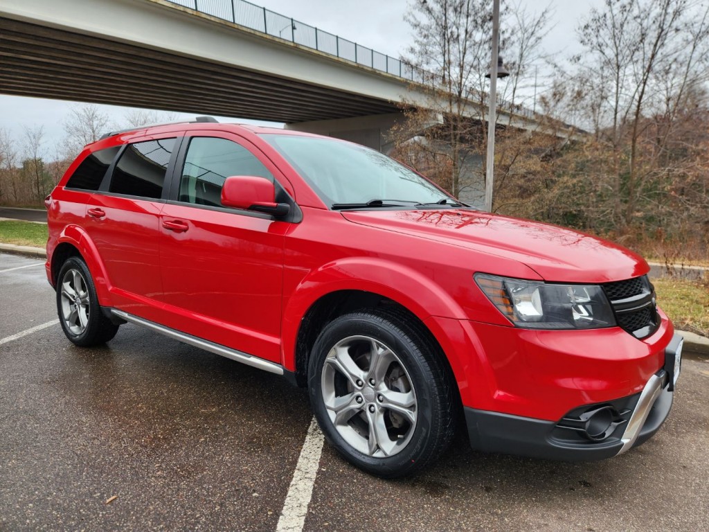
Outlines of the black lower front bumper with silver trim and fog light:
{"label": "black lower front bumper with silver trim and fog light", "polygon": [[[625,453],[651,438],[669,415],[681,351],[682,338],[676,334],[665,350],[664,367],[650,377],[642,392],[579,406],[559,421],[466,407],[471,446],[491,453],[566,461],[601,460]],[[605,433],[597,425],[589,429],[588,414],[598,411],[605,416],[601,424],[609,423]]]}

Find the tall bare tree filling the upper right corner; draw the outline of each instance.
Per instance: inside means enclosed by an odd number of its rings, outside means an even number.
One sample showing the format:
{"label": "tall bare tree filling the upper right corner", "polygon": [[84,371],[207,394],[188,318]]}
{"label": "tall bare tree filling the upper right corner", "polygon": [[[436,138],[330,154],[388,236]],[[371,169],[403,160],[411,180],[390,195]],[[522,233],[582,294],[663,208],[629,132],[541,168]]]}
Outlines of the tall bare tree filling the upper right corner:
{"label": "tall bare tree filling the upper right corner", "polygon": [[646,157],[648,118],[661,114],[673,123],[683,94],[706,80],[708,9],[692,0],[605,0],[579,29],[584,54],[577,79],[610,88],[596,92],[594,105],[598,138],[615,154],[613,218],[623,231],[657,171]]}

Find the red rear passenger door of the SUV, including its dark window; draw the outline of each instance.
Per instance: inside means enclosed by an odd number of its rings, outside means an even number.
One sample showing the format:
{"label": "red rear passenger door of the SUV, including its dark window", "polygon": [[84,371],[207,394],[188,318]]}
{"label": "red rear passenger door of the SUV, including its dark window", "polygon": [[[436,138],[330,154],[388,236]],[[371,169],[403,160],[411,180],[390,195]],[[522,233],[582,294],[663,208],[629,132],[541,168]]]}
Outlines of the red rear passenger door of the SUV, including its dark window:
{"label": "red rear passenger door of the SUV, including its dark window", "polygon": [[158,216],[177,140],[172,134],[125,145],[86,205],[86,232],[106,268],[111,304],[152,321],[161,316]]}

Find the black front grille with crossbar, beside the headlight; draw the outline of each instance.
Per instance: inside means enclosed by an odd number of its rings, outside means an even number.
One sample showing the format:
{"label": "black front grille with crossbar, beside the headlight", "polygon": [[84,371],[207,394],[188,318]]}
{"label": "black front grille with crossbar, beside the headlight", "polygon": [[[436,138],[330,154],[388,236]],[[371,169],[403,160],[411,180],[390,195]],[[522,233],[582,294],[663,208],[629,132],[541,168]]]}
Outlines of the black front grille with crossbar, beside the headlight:
{"label": "black front grille with crossbar, beside the headlight", "polygon": [[618,326],[635,338],[647,338],[657,331],[659,317],[655,292],[647,275],[603,284]]}

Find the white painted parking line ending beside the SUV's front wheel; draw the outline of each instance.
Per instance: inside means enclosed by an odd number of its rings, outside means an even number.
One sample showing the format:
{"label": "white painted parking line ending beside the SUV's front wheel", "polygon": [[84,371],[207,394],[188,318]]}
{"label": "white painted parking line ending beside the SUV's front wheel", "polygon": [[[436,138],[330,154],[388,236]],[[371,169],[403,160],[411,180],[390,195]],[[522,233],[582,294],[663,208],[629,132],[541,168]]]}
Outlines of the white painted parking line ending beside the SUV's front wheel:
{"label": "white painted parking line ending beside the SUV's front wheel", "polygon": [[298,457],[296,471],[288,488],[286,502],[278,520],[276,532],[301,532],[308,514],[308,504],[313,497],[313,485],[318,475],[320,455],[323,452],[323,433],[318,422],[313,418],[308,428],[306,440]]}

